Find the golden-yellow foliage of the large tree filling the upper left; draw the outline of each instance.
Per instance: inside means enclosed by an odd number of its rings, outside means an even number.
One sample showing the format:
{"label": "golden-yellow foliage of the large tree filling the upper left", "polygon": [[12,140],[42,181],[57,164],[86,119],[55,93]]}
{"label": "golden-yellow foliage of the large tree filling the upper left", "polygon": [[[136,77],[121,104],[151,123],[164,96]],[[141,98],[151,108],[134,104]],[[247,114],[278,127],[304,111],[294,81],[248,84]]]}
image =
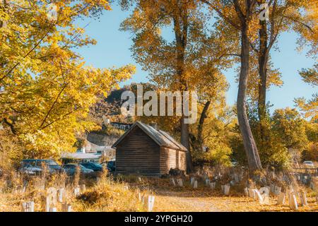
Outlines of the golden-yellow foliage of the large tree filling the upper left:
{"label": "golden-yellow foliage of the large tree filling the upper left", "polygon": [[[98,16],[108,1],[54,1],[58,19],[47,20],[47,3],[19,1],[10,8],[6,39],[1,38],[0,118],[11,120],[25,150],[58,155],[73,150],[75,134],[97,129],[88,119],[97,97],[130,78],[134,66],[95,69],[73,47],[95,44],[74,24],[78,16]],[[1,18],[6,18],[1,8]],[[1,28],[3,29],[3,28]],[[1,31],[2,35],[2,31]],[[1,78],[0,77],[0,78]]]}

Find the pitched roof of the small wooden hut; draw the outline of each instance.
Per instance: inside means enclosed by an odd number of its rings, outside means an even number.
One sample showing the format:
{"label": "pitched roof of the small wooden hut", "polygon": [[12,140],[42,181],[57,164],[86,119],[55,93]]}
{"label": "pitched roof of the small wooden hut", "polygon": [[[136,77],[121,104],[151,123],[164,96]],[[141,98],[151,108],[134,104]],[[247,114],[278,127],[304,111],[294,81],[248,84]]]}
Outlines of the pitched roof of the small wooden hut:
{"label": "pitched roof of the small wooden hut", "polygon": [[187,151],[187,148],[184,147],[181,143],[175,141],[172,136],[170,136],[165,131],[158,131],[154,129],[152,126],[148,126],[143,124],[140,121],[136,121],[136,123],[131,126],[131,128],[124,133],[115,143],[112,145],[112,148],[116,148],[116,146],[126,137],[136,126],[138,126],[142,131],[144,131],[148,136],[150,136],[155,143],[160,145],[160,147],[172,148],[175,150],[184,150]]}

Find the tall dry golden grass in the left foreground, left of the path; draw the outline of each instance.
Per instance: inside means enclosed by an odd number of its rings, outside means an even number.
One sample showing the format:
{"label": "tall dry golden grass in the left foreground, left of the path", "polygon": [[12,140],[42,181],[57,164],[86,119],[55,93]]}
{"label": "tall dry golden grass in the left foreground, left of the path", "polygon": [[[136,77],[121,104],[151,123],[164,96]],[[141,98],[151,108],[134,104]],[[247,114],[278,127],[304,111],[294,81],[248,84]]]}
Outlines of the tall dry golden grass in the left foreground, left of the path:
{"label": "tall dry golden grass in the left foreground, left of the path", "polygon": [[[102,174],[98,182],[79,181],[78,177],[70,180],[64,174],[57,174],[54,177],[32,177],[28,178],[28,186],[23,191],[23,181],[27,178],[12,175],[1,180],[0,187],[0,211],[17,212],[21,211],[23,202],[34,201],[35,211],[45,210],[45,197],[47,189],[64,188],[64,202],[72,206],[73,211],[145,211],[146,203],[139,201],[139,189],[129,189],[128,184],[114,181],[111,177]],[[73,191],[77,184],[86,183],[90,186],[79,196],[74,196]],[[45,189],[43,189],[45,184]],[[146,191],[141,194],[147,196]],[[61,211],[61,203],[57,202],[53,207]]]}

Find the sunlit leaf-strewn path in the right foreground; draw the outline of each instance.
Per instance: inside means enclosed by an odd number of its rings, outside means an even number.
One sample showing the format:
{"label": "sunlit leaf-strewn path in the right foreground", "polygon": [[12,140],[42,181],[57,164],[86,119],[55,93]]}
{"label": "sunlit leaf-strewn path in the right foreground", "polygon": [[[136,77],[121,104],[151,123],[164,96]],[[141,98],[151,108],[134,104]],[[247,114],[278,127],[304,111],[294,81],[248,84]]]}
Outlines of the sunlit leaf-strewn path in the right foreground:
{"label": "sunlit leaf-strewn path in the right foreground", "polygon": [[[198,194],[200,196],[198,196]],[[292,211],[288,203],[276,205],[277,198],[271,197],[266,205],[260,205],[252,198],[245,196],[221,196],[220,194],[204,194],[192,191],[155,191],[155,207],[158,212],[249,212],[249,211]],[[308,198],[309,206],[299,206],[298,211],[317,212],[318,205],[315,198]]]}

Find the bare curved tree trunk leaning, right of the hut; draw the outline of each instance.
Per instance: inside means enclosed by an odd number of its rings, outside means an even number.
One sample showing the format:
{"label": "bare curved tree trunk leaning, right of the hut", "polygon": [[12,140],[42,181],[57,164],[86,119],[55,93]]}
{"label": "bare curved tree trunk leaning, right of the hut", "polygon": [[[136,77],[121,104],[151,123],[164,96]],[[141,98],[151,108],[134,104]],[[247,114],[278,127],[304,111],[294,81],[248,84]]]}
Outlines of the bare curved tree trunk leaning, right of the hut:
{"label": "bare curved tree trunk leaning, right of the hut", "polygon": [[247,23],[242,23],[241,70],[239,90],[237,94],[237,119],[240,125],[240,131],[247,155],[249,170],[254,171],[257,169],[261,169],[261,160],[259,159],[259,153],[257,150],[257,145],[254,141],[251,127],[249,126],[249,119],[247,118],[246,109],[247,81],[249,75],[249,39],[247,36],[247,30]]}

